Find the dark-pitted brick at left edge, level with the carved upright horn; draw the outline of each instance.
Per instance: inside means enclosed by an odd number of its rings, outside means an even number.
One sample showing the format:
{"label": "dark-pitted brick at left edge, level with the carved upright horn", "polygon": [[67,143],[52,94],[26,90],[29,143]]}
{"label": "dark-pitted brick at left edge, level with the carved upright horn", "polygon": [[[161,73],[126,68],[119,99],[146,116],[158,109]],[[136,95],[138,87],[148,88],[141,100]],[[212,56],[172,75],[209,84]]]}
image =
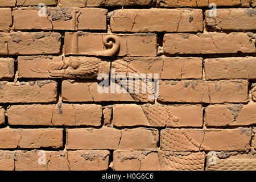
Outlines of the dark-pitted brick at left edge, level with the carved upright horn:
{"label": "dark-pitted brick at left edge, level with the carved upright horn", "polygon": [[0,55],[46,55],[60,52],[61,35],[56,32],[12,32],[0,34]]}

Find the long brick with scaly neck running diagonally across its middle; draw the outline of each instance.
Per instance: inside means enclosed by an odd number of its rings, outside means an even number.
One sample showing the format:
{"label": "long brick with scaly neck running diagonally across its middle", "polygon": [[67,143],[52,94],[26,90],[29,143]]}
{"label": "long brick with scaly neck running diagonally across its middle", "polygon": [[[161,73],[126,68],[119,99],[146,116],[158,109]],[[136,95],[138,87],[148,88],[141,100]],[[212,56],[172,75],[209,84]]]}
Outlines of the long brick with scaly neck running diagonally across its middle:
{"label": "long brick with scaly neck running diagonally across its middle", "polygon": [[113,105],[113,125],[201,127],[203,109],[200,105]]}

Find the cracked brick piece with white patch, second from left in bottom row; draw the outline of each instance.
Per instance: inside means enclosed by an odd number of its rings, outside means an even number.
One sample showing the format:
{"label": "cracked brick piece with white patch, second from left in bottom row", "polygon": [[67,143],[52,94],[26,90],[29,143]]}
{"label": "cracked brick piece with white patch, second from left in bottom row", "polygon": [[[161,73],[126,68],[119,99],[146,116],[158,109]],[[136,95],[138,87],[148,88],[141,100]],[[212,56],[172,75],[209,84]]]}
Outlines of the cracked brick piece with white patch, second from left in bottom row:
{"label": "cracked brick piece with white patch, second from left in bottom row", "polygon": [[[45,153],[43,153],[45,152]],[[46,157],[46,161],[42,157]],[[68,171],[66,151],[17,151],[15,171]]]}

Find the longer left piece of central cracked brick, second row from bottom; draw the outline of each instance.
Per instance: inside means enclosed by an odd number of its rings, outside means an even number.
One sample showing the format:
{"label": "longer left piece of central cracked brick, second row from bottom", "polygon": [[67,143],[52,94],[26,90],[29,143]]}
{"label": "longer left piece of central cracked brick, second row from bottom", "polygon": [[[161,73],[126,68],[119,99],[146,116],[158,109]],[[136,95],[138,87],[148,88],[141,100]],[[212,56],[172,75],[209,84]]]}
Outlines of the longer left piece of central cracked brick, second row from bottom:
{"label": "longer left piece of central cracked brick, second row from bottom", "polygon": [[115,150],[120,138],[121,132],[111,127],[67,129],[67,148]]}

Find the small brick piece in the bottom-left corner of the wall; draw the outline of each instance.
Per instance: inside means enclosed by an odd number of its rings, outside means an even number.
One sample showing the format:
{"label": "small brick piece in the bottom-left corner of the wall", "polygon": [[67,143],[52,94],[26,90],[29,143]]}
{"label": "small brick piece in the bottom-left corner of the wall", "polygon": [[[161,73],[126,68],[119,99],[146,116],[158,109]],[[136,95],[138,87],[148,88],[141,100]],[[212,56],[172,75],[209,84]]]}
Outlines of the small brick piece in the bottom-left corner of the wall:
{"label": "small brick piece in the bottom-left corner of the wall", "polygon": [[16,154],[14,151],[0,150],[0,171],[14,171]]}

